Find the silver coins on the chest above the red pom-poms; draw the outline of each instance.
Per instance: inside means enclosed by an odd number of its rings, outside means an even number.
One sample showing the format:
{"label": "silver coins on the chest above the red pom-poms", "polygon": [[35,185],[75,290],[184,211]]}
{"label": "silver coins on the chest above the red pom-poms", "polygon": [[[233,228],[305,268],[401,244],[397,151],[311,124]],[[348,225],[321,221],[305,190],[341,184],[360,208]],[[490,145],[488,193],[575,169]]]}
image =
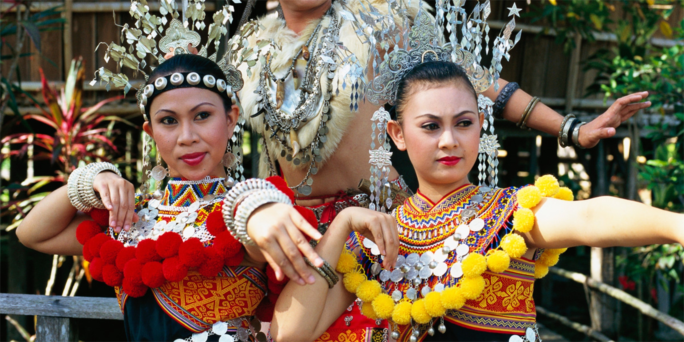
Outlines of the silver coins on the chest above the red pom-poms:
{"label": "silver coins on the chest above the red pom-poms", "polygon": [[[202,183],[213,183],[216,181],[223,181],[223,179],[207,178],[201,181],[174,181],[179,185],[192,185]],[[124,243],[124,246],[136,246],[144,239],[157,239],[163,233],[174,232],[183,237],[183,241],[191,237],[197,237],[202,242],[209,241],[214,238],[213,235],[207,231],[207,222],[196,222],[200,209],[213,206],[215,203],[222,202],[224,194],[207,194],[203,198],[196,200],[187,207],[178,207],[174,205],[162,205],[162,194],[157,191],[155,194],[147,194],[149,198],[145,208],[137,211],[137,216],[140,220],[135,222],[130,231],[121,231],[117,239]],[[160,211],[162,213],[160,213]],[[180,212],[178,214],[166,214],[163,212]],[[169,221],[159,220],[168,218]],[[114,235],[112,228],[109,228],[109,235]]]}

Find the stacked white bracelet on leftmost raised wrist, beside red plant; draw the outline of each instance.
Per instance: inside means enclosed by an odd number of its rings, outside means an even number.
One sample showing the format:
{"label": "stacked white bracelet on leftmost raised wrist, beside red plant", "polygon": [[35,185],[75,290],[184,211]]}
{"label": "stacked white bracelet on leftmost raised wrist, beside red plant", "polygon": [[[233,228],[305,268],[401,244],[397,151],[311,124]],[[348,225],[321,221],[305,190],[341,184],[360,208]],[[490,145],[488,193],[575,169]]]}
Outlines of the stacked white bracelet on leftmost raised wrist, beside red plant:
{"label": "stacked white bracelet on leftmost raised wrist, beside red plant", "polygon": [[93,208],[105,209],[105,205],[97,197],[92,187],[95,176],[103,171],[115,172],[121,176],[121,172],[114,164],[104,161],[90,163],[71,172],[66,183],[66,196],[77,210],[88,212]]}

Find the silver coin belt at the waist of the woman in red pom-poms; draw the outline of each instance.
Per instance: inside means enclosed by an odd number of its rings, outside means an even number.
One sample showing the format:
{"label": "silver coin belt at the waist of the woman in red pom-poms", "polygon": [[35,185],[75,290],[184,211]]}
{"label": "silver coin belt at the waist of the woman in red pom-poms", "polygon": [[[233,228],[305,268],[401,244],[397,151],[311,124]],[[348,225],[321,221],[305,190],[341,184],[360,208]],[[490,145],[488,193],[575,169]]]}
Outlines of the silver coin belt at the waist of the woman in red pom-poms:
{"label": "silver coin belt at the waist of the woman in red pom-poms", "polygon": [[[243,322],[248,324],[248,328],[242,326]],[[250,341],[250,337],[252,341],[268,341],[266,334],[259,330],[261,330],[259,319],[254,318],[250,321],[247,317],[240,317],[228,321],[218,321],[203,332],[196,332],[190,337],[176,339],[174,342],[206,342],[211,335],[219,335],[219,342],[247,342]]]}

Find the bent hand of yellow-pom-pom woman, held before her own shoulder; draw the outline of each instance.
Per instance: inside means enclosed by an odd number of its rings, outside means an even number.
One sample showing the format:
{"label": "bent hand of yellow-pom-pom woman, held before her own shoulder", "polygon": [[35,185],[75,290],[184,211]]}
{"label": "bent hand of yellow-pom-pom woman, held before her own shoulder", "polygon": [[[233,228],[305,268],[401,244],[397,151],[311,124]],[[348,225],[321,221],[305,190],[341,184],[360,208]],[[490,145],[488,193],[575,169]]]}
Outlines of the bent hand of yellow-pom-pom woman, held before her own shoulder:
{"label": "bent hand of yellow-pom-pom woman, held before her own shoulder", "polygon": [[399,253],[399,233],[397,220],[391,215],[371,209],[348,207],[337,215],[335,220],[342,220],[350,230],[363,235],[378,245],[380,254],[384,256],[382,267],[394,267]]}

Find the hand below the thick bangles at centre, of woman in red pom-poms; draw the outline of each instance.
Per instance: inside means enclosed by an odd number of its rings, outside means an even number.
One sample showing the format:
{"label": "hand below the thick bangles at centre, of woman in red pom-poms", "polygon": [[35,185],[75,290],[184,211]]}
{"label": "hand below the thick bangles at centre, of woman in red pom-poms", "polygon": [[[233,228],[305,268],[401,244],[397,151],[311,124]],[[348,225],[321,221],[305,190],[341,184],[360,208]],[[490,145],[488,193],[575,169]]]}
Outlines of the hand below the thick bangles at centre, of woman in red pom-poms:
{"label": "hand below the thick bangles at centre, of woman in red pom-poms", "polygon": [[259,246],[278,280],[284,274],[300,285],[315,282],[304,257],[317,267],[323,266],[323,259],[308,244],[309,237],[319,240],[322,236],[293,207],[282,203],[262,205],[247,220],[247,234]]}

